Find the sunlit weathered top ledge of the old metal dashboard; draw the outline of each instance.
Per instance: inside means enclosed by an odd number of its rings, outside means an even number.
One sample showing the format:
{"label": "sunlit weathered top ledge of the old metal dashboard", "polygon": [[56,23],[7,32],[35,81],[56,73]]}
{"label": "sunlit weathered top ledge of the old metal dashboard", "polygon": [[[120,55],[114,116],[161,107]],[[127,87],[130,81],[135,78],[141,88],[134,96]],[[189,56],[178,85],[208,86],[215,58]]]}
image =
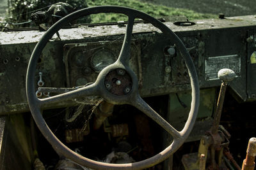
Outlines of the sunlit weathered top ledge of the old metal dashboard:
{"label": "sunlit weathered top ledge of the old metal dashboard", "polygon": [[[189,27],[180,27],[174,25],[172,22],[165,22],[170,29],[174,32],[181,31],[200,31],[209,29],[220,29],[223,27],[246,27],[253,26],[256,22],[256,15],[249,15],[243,17],[230,17],[225,20],[209,19],[209,20],[196,20],[195,25]],[[134,33],[138,32],[160,32],[159,29],[151,24],[134,24]],[[110,36],[116,34],[124,34],[125,27],[118,27],[118,25],[101,25],[97,27],[79,26],[74,29],[61,29],[59,31],[62,40],[68,39],[83,39],[88,37]],[[33,43],[39,41],[44,32],[26,31],[26,32],[0,32],[1,44],[13,43]],[[52,40],[58,39],[56,35]]]}

